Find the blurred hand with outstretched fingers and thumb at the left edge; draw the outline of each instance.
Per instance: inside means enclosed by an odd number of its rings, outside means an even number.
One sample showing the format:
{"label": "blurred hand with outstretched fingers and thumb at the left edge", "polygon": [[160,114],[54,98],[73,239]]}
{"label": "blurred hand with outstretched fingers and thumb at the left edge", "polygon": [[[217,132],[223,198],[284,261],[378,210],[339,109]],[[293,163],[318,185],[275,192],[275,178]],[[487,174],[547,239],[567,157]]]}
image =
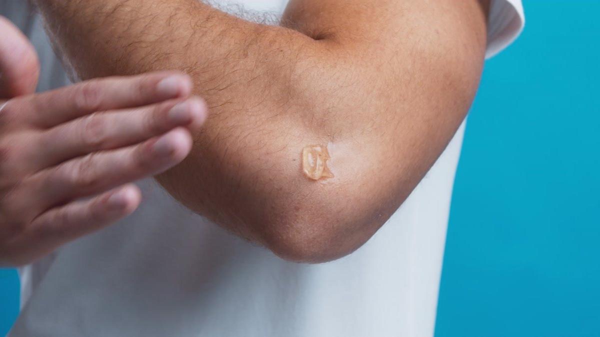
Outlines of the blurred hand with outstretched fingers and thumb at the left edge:
{"label": "blurred hand with outstretched fingers and thumb at the left edge", "polygon": [[33,47],[2,17],[0,35],[0,266],[17,266],[133,212],[131,182],[180,163],[206,107],[173,72],[32,94]]}

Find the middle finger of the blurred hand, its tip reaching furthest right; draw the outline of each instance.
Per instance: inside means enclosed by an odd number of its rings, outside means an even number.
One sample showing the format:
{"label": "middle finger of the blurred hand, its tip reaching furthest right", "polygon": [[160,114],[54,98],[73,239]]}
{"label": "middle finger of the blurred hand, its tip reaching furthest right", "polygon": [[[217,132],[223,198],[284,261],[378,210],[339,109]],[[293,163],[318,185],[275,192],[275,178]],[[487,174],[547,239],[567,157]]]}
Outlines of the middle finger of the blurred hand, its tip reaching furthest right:
{"label": "middle finger of the blurred hand, its tip reaching furthest right", "polygon": [[91,152],[134,145],[176,127],[196,128],[203,124],[206,113],[204,101],[193,97],[88,115],[44,133],[43,155],[32,161],[43,169]]}

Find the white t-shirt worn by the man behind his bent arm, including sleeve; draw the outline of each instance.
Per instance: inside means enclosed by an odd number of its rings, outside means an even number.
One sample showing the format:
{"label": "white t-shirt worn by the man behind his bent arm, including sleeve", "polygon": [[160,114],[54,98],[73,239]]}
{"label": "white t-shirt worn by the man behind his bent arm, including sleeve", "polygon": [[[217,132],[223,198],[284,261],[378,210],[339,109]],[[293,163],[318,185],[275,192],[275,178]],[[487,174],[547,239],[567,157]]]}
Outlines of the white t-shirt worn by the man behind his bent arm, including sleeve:
{"label": "white t-shirt worn by the man behind his bent arm, including sleeve", "polygon": [[[244,1],[281,13],[285,0]],[[67,84],[26,1],[0,0],[40,52],[39,89]],[[494,0],[488,56],[517,37],[519,0]],[[340,260],[296,264],[140,182],[134,215],[20,270],[22,336],[432,336],[464,123],[403,206]]]}

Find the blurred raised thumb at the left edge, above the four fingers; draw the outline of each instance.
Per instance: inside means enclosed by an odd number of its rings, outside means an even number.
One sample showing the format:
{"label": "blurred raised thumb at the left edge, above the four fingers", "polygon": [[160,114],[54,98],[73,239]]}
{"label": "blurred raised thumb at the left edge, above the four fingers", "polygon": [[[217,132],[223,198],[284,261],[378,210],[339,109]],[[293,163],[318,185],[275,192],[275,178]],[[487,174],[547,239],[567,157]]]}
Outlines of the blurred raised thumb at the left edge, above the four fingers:
{"label": "blurred raised thumb at the left edge, above the four fingers", "polygon": [[2,16],[0,35],[0,99],[32,94],[40,76],[40,61],[34,46]]}

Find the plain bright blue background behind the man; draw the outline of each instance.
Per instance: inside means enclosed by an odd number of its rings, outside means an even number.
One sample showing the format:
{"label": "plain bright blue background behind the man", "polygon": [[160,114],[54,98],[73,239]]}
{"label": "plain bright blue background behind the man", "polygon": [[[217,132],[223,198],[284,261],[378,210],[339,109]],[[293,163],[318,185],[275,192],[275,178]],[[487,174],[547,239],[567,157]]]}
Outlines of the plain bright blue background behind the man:
{"label": "plain bright blue background behind the man", "polygon": [[[600,1],[524,5],[469,117],[437,337],[600,336]],[[0,336],[18,292],[0,270]]]}

